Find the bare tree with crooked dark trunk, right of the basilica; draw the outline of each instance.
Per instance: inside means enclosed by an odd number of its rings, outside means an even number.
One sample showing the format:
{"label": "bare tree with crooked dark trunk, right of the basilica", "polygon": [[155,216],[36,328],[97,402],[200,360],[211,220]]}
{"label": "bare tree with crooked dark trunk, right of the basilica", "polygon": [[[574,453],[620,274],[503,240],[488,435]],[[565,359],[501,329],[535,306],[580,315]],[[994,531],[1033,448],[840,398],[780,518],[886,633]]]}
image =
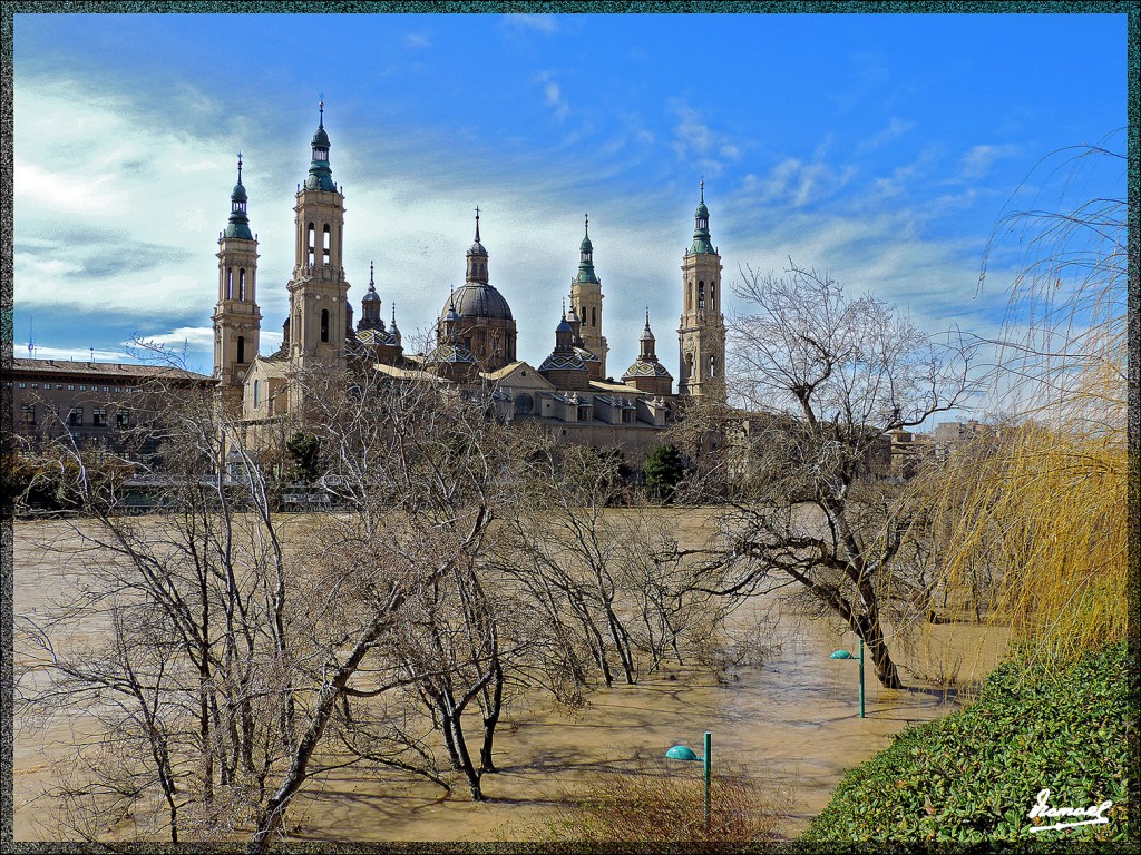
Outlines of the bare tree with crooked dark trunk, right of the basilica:
{"label": "bare tree with crooked dark trunk, right of the basilica", "polygon": [[737,577],[722,591],[802,586],[868,645],[880,682],[899,687],[884,619],[911,518],[871,477],[873,462],[892,431],[962,400],[972,350],[812,270],[743,278],[730,385],[748,416],[726,429],[735,498],[721,522]]}

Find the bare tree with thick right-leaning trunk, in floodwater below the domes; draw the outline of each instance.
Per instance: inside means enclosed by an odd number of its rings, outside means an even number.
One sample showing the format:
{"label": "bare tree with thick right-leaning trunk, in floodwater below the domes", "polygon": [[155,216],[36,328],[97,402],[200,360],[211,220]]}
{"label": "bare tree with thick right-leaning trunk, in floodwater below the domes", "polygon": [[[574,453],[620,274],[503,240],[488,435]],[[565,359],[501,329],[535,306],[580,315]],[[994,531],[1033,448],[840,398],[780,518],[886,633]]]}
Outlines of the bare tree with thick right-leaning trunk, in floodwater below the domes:
{"label": "bare tree with thick right-leaning trunk, in floodwater below the domes", "polygon": [[[260,813],[251,853],[266,849],[289,801],[323,768],[317,748],[326,727],[346,732],[370,718],[355,714],[354,702],[397,689],[431,698],[444,716],[448,754],[467,774],[472,797],[482,798],[502,662],[496,622],[471,570],[489,527],[518,504],[518,464],[533,441],[496,421],[485,399],[443,382],[393,381],[367,370],[314,373],[304,382],[305,421],[322,447],[318,481],[338,502],[338,512],[315,532],[322,557],[311,571],[326,596],[313,620],[315,632],[337,635],[313,660],[315,682],[299,740]],[[424,645],[444,656],[423,656]],[[477,699],[487,703],[478,764],[466,755],[461,724]],[[341,744],[361,742],[349,738]],[[404,746],[412,747],[429,759],[419,739]],[[348,762],[365,757],[387,763],[371,751]],[[388,765],[406,763],[390,759]],[[430,767],[427,773],[434,776]]]}

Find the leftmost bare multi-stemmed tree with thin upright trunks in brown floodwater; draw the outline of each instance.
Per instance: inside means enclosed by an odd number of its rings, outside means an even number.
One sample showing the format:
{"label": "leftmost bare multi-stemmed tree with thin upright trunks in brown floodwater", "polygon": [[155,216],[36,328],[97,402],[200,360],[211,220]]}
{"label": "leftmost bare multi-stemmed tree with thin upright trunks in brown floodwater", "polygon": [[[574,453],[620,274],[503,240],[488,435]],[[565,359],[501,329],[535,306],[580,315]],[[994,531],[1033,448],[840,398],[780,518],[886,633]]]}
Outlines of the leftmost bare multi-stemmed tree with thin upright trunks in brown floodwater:
{"label": "leftmost bare multi-stemmed tree with thin upright trunks in brown floodwater", "polygon": [[[234,425],[213,391],[156,382],[137,409],[152,417],[123,448],[149,454],[81,448],[66,431],[44,450],[41,469],[57,472],[58,490],[80,512],[49,547],[84,572],[56,609],[17,627],[25,663],[17,710],[97,714],[115,699],[118,736],[145,747],[121,768],[151,758],[177,841],[184,816],[209,837],[208,824],[228,825],[242,804],[256,803],[291,739],[285,562],[264,482],[232,482],[220,467]],[[132,515],[131,492],[161,516]],[[62,643],[84,619],[105,630]],[[35,682],[37,671],[54,678]],[[130,792],[121,809],[145,806],[153,787]],[[234,809],[219,814],[221,803]]]}

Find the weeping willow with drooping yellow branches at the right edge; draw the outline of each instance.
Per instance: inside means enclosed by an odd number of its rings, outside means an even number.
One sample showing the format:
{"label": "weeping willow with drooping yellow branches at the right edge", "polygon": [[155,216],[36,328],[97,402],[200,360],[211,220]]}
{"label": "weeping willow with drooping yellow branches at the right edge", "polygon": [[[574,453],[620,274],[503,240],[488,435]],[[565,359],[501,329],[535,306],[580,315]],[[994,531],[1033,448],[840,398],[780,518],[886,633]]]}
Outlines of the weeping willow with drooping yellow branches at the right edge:
{"label": "weeping willow with drooping yellow branches at the right edge", "polygon": [[[1126,632],[1125,169],[1107,147],[1067,149],[1015,194],[1033,181],[1037,195],[1030,207],[1012,199],[984,266],[987,284],[1009,250],[1018,253],[992,375],[1005,415],[984,448],[952,454],[921,486],[947,585],[978,593],[984,579],[990,616],[1042,654]],[[1091,192],[1098,186],[1119,193]]]}

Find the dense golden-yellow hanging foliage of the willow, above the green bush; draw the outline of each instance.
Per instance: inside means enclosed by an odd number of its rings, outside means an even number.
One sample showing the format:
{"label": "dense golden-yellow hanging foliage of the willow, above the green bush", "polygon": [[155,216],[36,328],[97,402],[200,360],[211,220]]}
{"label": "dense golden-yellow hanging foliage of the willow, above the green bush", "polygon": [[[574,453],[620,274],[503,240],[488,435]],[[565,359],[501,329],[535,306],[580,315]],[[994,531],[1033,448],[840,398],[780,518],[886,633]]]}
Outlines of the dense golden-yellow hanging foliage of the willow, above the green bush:
{"label": "dense golden-yellow hanging foliage of the willow, above the green bush", "polygon": [[954,454],[932,510],[947,584],[985,567],[990,618],[1068,656],[1125,637],[1123,437],[1026,423]]}

